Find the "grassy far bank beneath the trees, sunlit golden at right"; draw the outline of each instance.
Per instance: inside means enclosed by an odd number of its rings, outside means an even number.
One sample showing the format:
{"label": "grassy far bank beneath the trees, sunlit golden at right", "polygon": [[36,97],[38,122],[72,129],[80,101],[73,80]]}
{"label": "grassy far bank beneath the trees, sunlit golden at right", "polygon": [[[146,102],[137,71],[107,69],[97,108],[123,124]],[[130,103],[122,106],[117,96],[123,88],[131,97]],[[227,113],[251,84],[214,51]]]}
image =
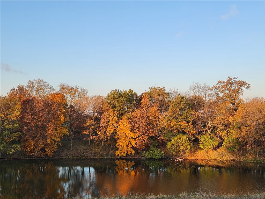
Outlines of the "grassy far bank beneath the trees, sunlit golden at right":
{"label": "grassy far bank beneath the trees, sunlit golden at right", "polygon": [[[115,158],[115,152],[117,148],[115,146],[102,146],[95,144],[93,141],[89,145],[89,141],[77,139],[73,140],[72,149],[70,148],[70,142],[62,140],[62,145],[58,146],[58,150],[54,153],[51,158]],[[165,157],[177,158],[177,155],[171,154],[166,146],[160,147],[165,152]],[[142,157],[141,153],[135,153],[133,157]],[[255,159],[255,153],[251,151],[244,151],[243,155],[241,152],[228,152],[225,149],[218,150],[201,150],[196,148],[188,154],[183,156],[185,159],[196,159],[196,160],[234,160],[234,161],[251,161],[251,162],[265,162],[265,157]],[[32,159],[34,157],[26,155],[24,151],[20,150],[12,154],[1,154],[1,159]],[[50,157],[49,157],[50,158]]]}

